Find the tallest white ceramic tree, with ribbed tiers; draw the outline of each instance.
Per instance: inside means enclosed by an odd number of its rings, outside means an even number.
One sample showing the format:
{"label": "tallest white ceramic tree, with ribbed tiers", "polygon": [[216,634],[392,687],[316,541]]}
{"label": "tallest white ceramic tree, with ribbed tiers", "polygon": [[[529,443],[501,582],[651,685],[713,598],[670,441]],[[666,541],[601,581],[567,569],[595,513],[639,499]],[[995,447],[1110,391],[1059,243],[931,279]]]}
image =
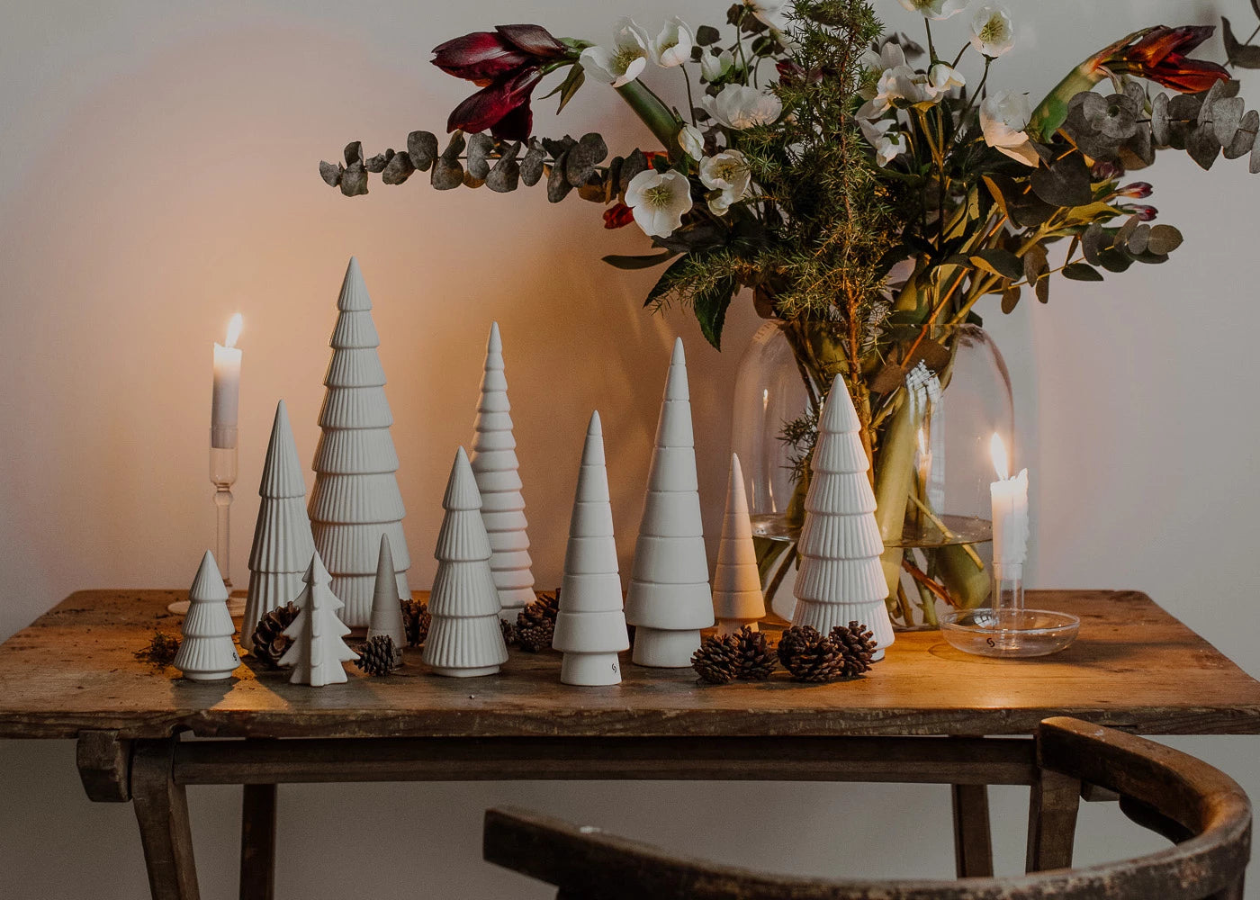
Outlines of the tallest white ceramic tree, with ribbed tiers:
{"label": "tallest white ceramic tree, with ribbed tiers", "polygon": [[402,532],[406,509],[394,476],[398,454],[389,436],[393,416],[377,355],[381,339],[372,321],[372,297],[354,257],[336,308],[340,313],[324,378],[328,393],[319,416],[310,519],[315,548],[333,576],[333,592],[345,603],[341,618],[360,628],[372,613],[381,536],[388,534],[393,548],[398,596],[411,596],[411,560]]}

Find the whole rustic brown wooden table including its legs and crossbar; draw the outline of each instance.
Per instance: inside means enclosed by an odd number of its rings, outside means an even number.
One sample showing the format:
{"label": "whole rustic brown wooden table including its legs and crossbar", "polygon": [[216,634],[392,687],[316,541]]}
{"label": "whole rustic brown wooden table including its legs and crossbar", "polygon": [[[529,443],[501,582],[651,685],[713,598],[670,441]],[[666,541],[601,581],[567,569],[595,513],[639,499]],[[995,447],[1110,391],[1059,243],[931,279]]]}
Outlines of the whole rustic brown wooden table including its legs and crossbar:
{"label": "whole rustic brown wooden table including its legs and crossbar", "polygon": [[[559,684],[559,658],[513,650],[498,677],[403,672],[323,688],[247,662],[192,683],[134,658],[178,630],[176,591],[81,591],[0,645],[0,737],[78,741],[93,800],[132,800],[154,897],[198,896],[189,784],[244,785],[241,896],[271,897],[276,784],[495,779],[859,780],[953,785],[959,875],[992,874],[989,784],[1033,789],[1028,866],[1070,865],[1081,785],[1038,775],[1027,737],[1067,715],[1145,735],[1257,734],[1260,683],[1129,591],[1031,591],[1081,618],[1033,661],[969,657],[898,634],[869,677],[701,684],[625,667]],[[186,736],[236,740],[197,741]],[[990,740],[1023,736],[1024,740]],[[281,740],[301,739],[301,740]],[[1086,794],[1089,793],[1085,785]]]}

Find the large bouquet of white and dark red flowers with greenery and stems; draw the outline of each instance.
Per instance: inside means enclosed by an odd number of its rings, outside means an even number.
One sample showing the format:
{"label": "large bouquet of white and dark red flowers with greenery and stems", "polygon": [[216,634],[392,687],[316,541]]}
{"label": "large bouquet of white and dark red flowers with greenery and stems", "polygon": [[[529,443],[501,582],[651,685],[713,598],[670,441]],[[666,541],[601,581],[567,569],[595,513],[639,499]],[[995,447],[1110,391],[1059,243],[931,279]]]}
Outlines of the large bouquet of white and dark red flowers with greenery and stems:
{"label": "large bouquet of white and dark red flowers with greenery and stems", "polygon": [[[606,228],[633,222],[650,239],[651,252],[605,257],[664,267],[646,306],[685,304],[716,348],[737,295],[780,320],[809,397],[782,424],[799,473],[784,524],[804,517],[816,412],[840,374],[873,463],[890,610],[910,626],[989,592],[966,543],[925,556],[900,539],[936,518],[916,454],[924,397],[949,387],[953,329],[978,323],[988,295],[1011,311],[1026,294],[1046,303],[1056,274],[1099,281],[1166,261],[1181,232],[1153,222],[1140,203],[1152,187],[1126,173],[1167,147],[1205,169],[1249,155],[1260,171],[1260,115],[1227,68],[1188,55],[1210,26],[1142,28],[1033,105],[990,82],[1012,47],[1005,9],[970,10],[960,49],[945,50],[934,28],[955,28],[940,23],[966,0],[900,3],[922,14],[921,43],[885,33],[866,0],[743,0],[719,25],[672,18],[654,33],[622,19],[607,44],[538,25],[466,34],[433,50],[480,88],[451,112],[445,146],[423,130],[370,158],[353,142],[320,171],[346,195],[365,194],[369,173],[402,184],[417,171],[438,190],[576,193]],[[1260,48],[1223,24],[1230,63],[1260,67]],[[536,135],[532,97],[548,78],[559,110],[586,82],[611,86],[650,139],[610,159],[598,134]],[[678,103],[662,97],[670,86]],[[762,563],[793,552],[774,542]]]}

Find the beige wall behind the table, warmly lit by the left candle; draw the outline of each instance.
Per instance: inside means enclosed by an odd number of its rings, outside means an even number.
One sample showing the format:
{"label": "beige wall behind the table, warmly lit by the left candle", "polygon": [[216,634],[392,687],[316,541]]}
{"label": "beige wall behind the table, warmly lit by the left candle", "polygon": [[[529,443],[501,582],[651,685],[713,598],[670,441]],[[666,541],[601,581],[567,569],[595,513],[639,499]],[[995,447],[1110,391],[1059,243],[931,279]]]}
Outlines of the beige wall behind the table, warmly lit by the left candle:
{"label": "beige wall behind the table, warmly lit by the left candle", "polygon": [[[539,5],[542,4],[542,5]],[[1222,0],[1249,21],[1249,4]],[[0,6],[0,638],[68,591],[183,586],[213,543],[207,482],[210,342],[246,314],[242,455],[232,571],[248,529],[275,401],[299,450],[316,439],[320,379],[345,260],[375,301],[403,460],[415,584],[432,572],[437,502],[467,440],[489,321],[504,334],[537,574],[558,576],[588,410],[605,421],[620,546],[634,528],[674,334],[687,340],[706,524],[717,527],[727,406],[756,326],[732,314],[728,350],[687,316],[639,306],[651,274],[605,267],[641,236],[598,227],[573,198],[503,198],[374,184],[343,199],[315,163],[358,137],[398,146],[437,130],[466,88],[428,67],[441,39],[537,20],[601,39],[633,13],[721,20],[724,5],[648,0],[461,4],[262,3]],[[572,6],[572,9],[566,9]],[[1045,91],[1138,24],[1208,21],[1211,4],[1084,0],[1014,5],[1022,47],[1003,87]],[[878,9],[911,24],[893,0]],[[1037,32],[1033,33],[1032,25]],[[937,30],[953,44],[963,20]],[[1212,45],[1218,53],[1218,44]],[[669,73],[664,73],[669,76]],[[677,76],[663,83],[679,93]],[[1260,78],[1245,92],[1260,101]],[[643,140],[615,98],[582,92],[552,125]],[[1256,187],[1160,160],[1152,200],[1187,233],[1174,261],[1102,285],[1056,284],[1048,308],[987,310],[1017,388],[1032,470],[1033,582],[1138,587],[1260,672],[1255,649],[1254,305]],[[1032,304],[1036,305],[1036,304]],[[1256,744],[1183,740],[1260,793]],[[480,812],[513,802],[694,852],[791,871],[948,871],[944,789],[844,785],[369,785],[285,788],[281,896],[389,890],[547,896],[478,862]],[[237,794],[193,792],[204,896],[232,896]],[[998,850],[1021,858],[1024,794],[997,792]],[[731,805],[726,805],[731,804]],[[728,824],[730,823],[730,824]],[[1130,852],[1118,816],[1089,808],[1081,858]],[[107,876],[102,874],[108,872]],[[430,881],[432,884],[430,884]],[[0,742],[0,896],[135,897],[144,870],[130,809],[89,804],[69,744]],[[1260,896],[1260,892],[1256,894]]]}

